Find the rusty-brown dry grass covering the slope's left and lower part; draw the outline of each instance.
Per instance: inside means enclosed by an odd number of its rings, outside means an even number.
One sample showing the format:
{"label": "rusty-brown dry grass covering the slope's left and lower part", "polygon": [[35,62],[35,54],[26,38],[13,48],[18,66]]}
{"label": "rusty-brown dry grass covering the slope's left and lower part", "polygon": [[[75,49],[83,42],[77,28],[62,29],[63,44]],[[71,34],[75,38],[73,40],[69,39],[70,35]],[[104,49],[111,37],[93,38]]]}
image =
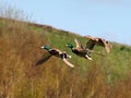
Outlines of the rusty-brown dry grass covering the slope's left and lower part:
{"label": "rusty-brown dry grass covering the slope's left and lower part", "polygon": [[96,62],[84,75],[81,66],[70,69],[55,57],[35,66],[46,52],[38,47],[51,44],[51,34],[26,23],[0,23],[0,98],[131,98],[130,75],[110,85]]}

